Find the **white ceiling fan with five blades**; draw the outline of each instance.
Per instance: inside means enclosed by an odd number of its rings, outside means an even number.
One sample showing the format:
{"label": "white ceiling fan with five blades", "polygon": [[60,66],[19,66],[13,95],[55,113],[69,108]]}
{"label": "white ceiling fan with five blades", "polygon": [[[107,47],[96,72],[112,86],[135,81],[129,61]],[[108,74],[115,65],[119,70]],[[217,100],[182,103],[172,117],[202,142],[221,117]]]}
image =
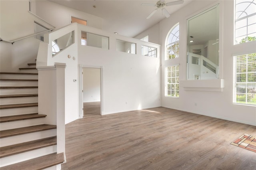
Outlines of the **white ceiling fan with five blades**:
{"label": "white ceiling fan with five blades", "polygon": [[182,4],[184,2],[184,0],[176,0],[176,1],[172,1],[172,2],[168,2],[165,3],[165,0],[159,0],[158,2],[156,2],[156,4],[147,4],[147,3],[142,3],[141,6],[156,6],[157,8],[151,13],[149,14],[149,16],[147,17],[147,19],[149,19],[150,17],[152,17],[154,15],[154,13],[156,13],[156,11],[161,8],[162,9],[162,13],[164,13],[164,15],[166,16],[166,18],[168,18],[170,16],[169,12],[164,8],[164,6],[171,6],[171,5],[178,5],[178,4]]}

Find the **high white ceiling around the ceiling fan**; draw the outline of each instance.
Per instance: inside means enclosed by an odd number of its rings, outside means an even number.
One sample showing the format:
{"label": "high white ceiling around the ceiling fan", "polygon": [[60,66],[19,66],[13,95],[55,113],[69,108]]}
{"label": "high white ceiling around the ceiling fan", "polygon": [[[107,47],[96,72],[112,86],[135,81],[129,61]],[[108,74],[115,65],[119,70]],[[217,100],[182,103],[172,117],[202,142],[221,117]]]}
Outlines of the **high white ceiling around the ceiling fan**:
{"label": "high white ceiling around the ceiling fan", "polygon": [[[94,16],[104,19],[103,28],[109,32],[134,37],[147,28],[157,24],[165,18],[158,10],[150,19],[147,16],[156,9],[155,6],[141,6],[142,3],[156,4],[158,0],[50,0]],[[166,0],[172,2],[175,0]],[[183,4],[167,6],[170,14],[176,12],[191,0],[184,0]],[[94,8],[93,6],[96,6]],[[172,16],[170,16],[172,17]]]}

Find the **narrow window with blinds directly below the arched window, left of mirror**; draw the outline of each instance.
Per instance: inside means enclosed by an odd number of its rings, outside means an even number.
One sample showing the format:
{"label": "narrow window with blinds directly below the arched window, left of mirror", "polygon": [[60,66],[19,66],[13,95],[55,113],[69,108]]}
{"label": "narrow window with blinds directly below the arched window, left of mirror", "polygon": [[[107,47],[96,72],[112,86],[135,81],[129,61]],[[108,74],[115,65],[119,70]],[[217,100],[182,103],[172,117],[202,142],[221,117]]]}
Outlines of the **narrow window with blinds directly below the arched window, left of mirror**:
{"label": "narrow window with blinds directly below the arched window, left of mirror", "polygon": [[165,67],[165,96],[179,97],[179,66]]}

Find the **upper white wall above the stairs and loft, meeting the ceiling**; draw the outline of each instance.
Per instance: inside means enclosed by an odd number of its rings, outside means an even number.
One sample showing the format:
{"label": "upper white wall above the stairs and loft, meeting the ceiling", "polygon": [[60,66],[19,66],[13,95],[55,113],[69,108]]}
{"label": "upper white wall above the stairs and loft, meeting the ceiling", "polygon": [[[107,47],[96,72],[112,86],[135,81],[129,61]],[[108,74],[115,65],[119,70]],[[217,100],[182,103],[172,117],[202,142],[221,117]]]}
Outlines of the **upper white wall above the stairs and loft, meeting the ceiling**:
{"label": "upper white wall above the stairs and loft, meeting the ceiling", "polygon": [[95,28],[102,28],[102,18],[74,10],[66,6],[56,4],[47,0],[32,0],[35,6],[36,15],[56,28],[71,24],[71,16],[87,21],[87,25]]}

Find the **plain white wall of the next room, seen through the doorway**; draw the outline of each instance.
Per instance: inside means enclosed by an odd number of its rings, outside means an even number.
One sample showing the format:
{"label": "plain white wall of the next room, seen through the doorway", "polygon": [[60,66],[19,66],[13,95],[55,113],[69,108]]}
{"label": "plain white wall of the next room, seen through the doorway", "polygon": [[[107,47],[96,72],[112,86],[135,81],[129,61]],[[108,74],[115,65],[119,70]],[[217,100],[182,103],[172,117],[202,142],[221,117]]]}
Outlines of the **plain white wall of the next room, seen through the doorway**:
{"label": "plain white wall of the next room, seen through the doorway", "polygon": [[83,102],[100,101],[100,69],[83,67]]}

